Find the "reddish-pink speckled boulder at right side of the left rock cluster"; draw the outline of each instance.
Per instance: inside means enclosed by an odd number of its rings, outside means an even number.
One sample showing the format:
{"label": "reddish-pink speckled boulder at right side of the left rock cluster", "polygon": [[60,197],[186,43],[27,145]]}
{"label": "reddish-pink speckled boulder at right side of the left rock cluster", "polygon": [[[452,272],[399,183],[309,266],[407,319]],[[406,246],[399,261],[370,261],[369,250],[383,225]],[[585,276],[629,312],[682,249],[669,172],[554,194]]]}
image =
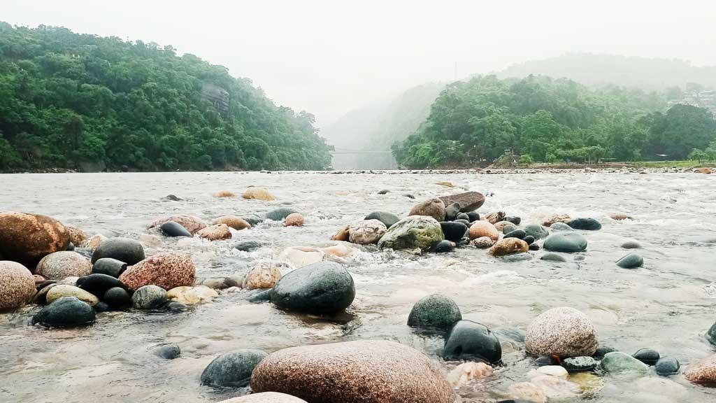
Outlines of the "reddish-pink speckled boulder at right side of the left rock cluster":
{"label": "reddish-pink speckled boulder at right side of the left rock cluster", "polygon": [[189,255],[183,253],[158,253],[133,265],[120,275],[120,281],[130,290],[145,285],[158,285],[165,290],[193,285],[196,267]]}

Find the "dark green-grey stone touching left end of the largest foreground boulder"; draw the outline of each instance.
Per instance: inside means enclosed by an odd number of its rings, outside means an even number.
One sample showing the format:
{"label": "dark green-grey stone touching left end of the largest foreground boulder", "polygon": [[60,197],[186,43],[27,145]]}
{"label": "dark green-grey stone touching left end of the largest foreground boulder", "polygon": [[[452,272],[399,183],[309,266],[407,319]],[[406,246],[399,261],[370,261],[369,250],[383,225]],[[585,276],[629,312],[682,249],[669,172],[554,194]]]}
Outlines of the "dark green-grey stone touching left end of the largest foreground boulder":
{"label": "dark green-grey stone touching left end of the largest foreground boulder", "polygon": [[247,387],[251,372],[266,356],[269,354],[253,349],[221,354],[201,373],[201,384],[213,387]]}

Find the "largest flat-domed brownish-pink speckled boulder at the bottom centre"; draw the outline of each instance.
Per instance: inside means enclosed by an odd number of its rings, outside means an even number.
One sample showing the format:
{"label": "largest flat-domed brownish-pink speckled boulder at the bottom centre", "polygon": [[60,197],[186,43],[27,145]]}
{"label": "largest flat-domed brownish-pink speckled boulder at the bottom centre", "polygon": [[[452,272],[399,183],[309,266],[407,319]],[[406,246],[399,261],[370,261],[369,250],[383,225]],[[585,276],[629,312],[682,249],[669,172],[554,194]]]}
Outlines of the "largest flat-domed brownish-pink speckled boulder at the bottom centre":
{"label": "largest flat-domed brownish-pink speckled boulder at the bottom centre", "polygon": [[452,403],[450,384],[430,359],[394,341],[348,341],[283,349],[251,376],[255,392],[309,403]]}

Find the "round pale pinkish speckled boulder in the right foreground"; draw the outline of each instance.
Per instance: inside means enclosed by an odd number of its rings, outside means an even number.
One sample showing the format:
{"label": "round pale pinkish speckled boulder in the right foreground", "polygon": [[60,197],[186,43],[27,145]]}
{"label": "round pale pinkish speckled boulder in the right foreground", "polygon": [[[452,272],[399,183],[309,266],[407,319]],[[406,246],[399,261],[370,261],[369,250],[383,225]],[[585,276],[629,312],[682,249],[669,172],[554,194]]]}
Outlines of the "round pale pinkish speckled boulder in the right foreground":
{"label": "round pale pinkish speckled boulder in the right foreground", "polygon": [[525,347],[535,356],[591,356],[599,340],[594,325],[579,310],[552,308],[537,316],[527,328]]}

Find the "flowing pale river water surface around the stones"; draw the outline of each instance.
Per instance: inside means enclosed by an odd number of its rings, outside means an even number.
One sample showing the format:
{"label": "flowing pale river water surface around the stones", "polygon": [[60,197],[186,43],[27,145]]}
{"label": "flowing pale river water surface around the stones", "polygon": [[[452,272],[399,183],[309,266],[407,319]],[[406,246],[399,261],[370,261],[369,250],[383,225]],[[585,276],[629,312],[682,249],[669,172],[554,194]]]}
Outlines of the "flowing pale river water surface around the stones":
{"label": "flowing pale river water surface around the stones", "polygon": [[[455,189],[435,184],[450,181]],[[262,186],[276,201],[217,199]],[[389,189],[387,194],[377,191]],[[463,190],[464,189],[464,190]],[[329,322],[252,304],[242,290],[224,290],[211,303],[181,313],[101,313],[87,328],[29,326],[37,308],[0,314],[0,402],[218,402],[246,389],[200,386],[203,368],[233,349],[276,351],[289,346],[354,339],[392,339],[423,351],[447,373],[455,363],[438,358],[439,336],[405,323],[412,305],[430,293],[453,298],[463,318],[490,328],[525,330],[539,313],[571,306],[586,313],[600,343],[632,354],[659,351],[686,364],[713,354],[705,331],[716,321],[716,177],[701,174],[322,174],[161,173],[19,174],[0,176],[0,210],[46,214],[87,234],[140,239],[147,255],[175,250],[192,255],[198,277],[246,272],[254,260],[285,247],[326,246],[342,224],[373,210],[405,215],[431,196],[481,191],[479,212],[503,210],[523,224],[551,214],[594,217],[601,231],[584,232],[584,253],[569,262],[505,262],[463,247],[445,255],[409,255],[359,247],[347,259],[357,298],[354,315]],[[182,201],[165,201],[175,194]],[[404,194],[412,194],[415,200]],[[304,227],[260,224],[208,242],[153,236],[147,224],[165,214],[195,214],[211,221],[225,214],[261,214],[284,204],[304,213]],[[611,213],[629,221],[614,221]],[[638,240],[644,267],[614,265],[620,245]],[[237,240],[265,244],[233,250]],[[151,351],[178,343],[182,356],[164,360]],[[523,347],[503,346],[504,366],[457,392],[463,402],[495,402],[513,383],[527,381],[533,359]],[[566,402],[715,402],[716,389],[689,384],[682,375],[663,381],[653,373],[604,384]]]}

